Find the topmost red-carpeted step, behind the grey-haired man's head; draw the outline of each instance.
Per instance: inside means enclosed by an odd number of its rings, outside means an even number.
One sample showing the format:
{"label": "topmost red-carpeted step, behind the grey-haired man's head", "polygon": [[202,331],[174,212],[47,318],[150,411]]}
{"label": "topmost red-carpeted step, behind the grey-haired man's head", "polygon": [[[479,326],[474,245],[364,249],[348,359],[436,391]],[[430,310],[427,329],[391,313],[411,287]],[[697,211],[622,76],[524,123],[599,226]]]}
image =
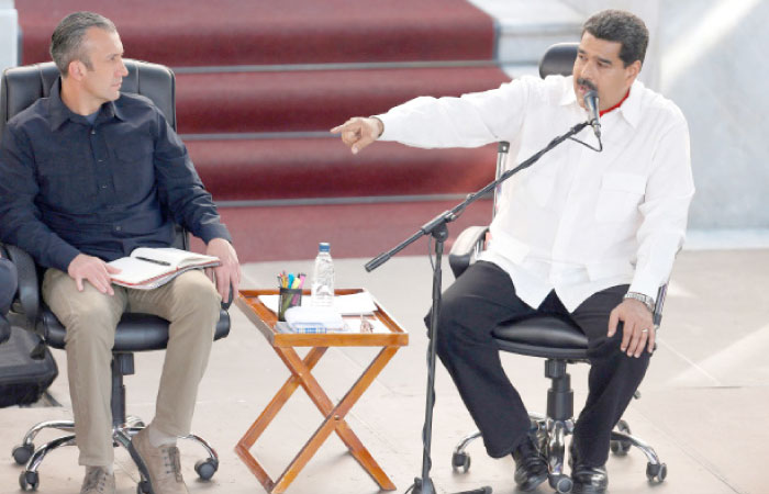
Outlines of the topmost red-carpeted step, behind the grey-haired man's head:
{"label": "topmost red-carpeted step, behind the grey-haired man's head", "polygon": [[23,63],[49,60],[70,12],[110,18],[126,56],[170,67],[492,58],[491,18],[465,0],[22,0]]}

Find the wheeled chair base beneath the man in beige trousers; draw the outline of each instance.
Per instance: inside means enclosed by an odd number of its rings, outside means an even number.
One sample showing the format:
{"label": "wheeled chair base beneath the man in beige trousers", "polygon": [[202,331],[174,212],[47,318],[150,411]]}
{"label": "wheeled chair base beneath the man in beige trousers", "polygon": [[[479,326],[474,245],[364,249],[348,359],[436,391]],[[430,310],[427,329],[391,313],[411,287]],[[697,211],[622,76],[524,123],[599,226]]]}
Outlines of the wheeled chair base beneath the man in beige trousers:
{"label": "wheeled chair base beneath the man in beige trousers", "polygon": [[[140,483],[138,492],[152,492],[149,489],[149,476],[147,475],[147,470],[142,461],[141,457],[136,453],[133,446],[131,445],[131,438],[138,434],[140,430],[144,429],[145,424],[138,417],[127,417],[125,424],[115,426],[112,428],[112,441],[113,446],[121,446],[125,448],[131,454],[132,460],[136,464],[140,474],[143,479]],[[35,449],[34,439],[40,431],[43,429],[59,429],[70,433],[66,436],[62,436],[52,441],[46,442],[40,448]],[[181,437],[180,439],[188,439],[200,445],[207,452],[208,458],[199,460],[194,470],[201,480],[210,480],[216,470],[219,470],[219,454],[216,451],[201,437],[196,435],[189,435]],[[31,490],[34,491],[40,485],[40,474],[37,473],[43,459],[51,451],[63,447],[63,446],[74,446],[75,440],[75,423],[73,420],[48,420],[42,422],[34,427],[32,427],[26,435],[24,440],[20,446],[13,448],[13,460],[18,464],[25,464],[24,471],[19,475],[19,485],[22,491]]]}

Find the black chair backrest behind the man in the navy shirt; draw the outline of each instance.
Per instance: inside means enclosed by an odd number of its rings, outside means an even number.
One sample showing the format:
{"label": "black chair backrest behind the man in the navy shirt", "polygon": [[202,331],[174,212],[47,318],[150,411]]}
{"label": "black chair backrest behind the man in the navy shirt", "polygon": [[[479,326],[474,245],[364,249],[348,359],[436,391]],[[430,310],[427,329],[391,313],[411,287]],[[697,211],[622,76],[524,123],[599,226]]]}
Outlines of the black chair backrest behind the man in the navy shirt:
{"label": "black chair backrest behind the man in the navy shirt", "polygon": [[[121,92],[149,98],[176,130],[176,77],[171,69],[129,58],[124,61],[129,75],[123,78]],[[0,83],[0,135],[13,115],[40,98],[47,98],[58,77],[59,71],[53,61],[5,69]]]}

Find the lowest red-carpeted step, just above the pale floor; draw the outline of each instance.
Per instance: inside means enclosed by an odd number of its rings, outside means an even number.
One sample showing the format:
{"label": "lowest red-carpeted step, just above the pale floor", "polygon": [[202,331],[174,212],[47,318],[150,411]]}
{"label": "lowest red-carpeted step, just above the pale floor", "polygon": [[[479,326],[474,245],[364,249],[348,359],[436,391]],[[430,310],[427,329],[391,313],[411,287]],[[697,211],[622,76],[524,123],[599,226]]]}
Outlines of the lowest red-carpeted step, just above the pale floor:
{"label": "lowest red-carpeted step, just above the pale floor", "polygon": [[[219,212],[232,232],[241,262],[312,259],[317,254],[317,243],[328,242],[334,258],[361,258],[360,271],[364,272],[364,263],[369,259],[400,244],[458,202],[219,207]],[[491,209],[491,201],[481,199],[450,223],[445,252],[466,227],[489,224]],[[192,244],[197,251],[204,251],[199,239],[193,238]],[[425,237],[398,255],[425,256],[427,251]],[[381,272],[386,270],[387,267],[382,267]],[[452,274],[444,272],[444,277]],[[428,283],[426,279],[425,290],[430,289]]]}

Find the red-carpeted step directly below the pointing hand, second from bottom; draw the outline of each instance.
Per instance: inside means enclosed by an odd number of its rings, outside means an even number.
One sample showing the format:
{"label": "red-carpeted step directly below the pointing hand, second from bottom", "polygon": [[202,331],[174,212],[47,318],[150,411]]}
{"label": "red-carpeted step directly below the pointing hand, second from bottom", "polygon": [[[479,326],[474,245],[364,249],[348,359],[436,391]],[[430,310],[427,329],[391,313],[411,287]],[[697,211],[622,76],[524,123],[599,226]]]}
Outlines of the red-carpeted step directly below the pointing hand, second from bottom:
{"label": "red-carpeted step directly below the pointing hand, second from bottom", "polygon": [[376,143],[353,155],[337,138],[187,143],[218,203],[466,194],[494,176],[497,147],[416,149]]}

